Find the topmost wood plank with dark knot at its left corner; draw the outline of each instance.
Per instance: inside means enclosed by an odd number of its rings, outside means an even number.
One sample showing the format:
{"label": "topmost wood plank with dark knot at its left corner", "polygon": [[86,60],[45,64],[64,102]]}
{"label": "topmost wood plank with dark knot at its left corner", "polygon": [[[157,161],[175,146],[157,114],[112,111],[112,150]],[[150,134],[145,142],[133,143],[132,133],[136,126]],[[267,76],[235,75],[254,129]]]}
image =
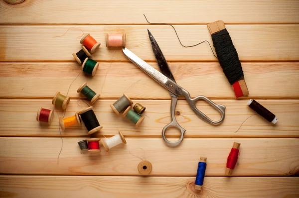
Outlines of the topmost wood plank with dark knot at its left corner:
{"label": "topmost wood plank with dark knot at its left corner", "polygon": [[1,24],[146,24],[143,14],[168,23],[299,23],[298,12],[297,0],[26,0],[14,6],[0,1]]}

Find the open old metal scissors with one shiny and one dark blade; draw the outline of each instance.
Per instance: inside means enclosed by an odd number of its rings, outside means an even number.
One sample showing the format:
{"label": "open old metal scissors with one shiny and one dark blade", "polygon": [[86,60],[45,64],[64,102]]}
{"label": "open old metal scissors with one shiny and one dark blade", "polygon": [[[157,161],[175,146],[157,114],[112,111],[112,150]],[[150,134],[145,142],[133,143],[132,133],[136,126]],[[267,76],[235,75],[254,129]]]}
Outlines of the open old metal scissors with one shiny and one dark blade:
{"label": "open old metal scissors with one shiny and one dark blade", "polygon": [[[171,106],[170,106],[170,111],[171,111],[171,122],[164,126],[162,129],[162,138],[163,140],[170,146],[176,146],[181,143],[184,137],[185,129],[181,127],[175,118],[175,107],[177,103],[178,96],[183,96],[187,100],[189,106],[191,109],[195,112],[195,114],[204,120],[205,122],[213,125],[220,124],[225,117],[225,106],[222,104],[216,104],[212,100],[206,98],[205,96],[198,96],[195,98],[191,98],[190,94],[184,90],[182,87],[176,84],[175,79],[168,67],[167,61],[165,57],[162,54],[162,51],[160,47],[158,46],[156,40],[153,38],[152,34],[149,32],[149,40],[150,44],[152,47],[152,51],[154,53],[155,59],[158,63],[159,69],[161,72],[157,71],[153,67],[151,67],[148,63],[143,61],[141,58],[136,56],[133,52],[131,52],[127,48],[123,48],[124,54],[127,56],[129,60],[131,60],[134,64],[136,64],[140,69],[142,69],[145,73],[147,73],[151,78],[153,78],[157,83],[159,83],[161,86],[166,88],[171,96]],[[221,114],[221,118],[218,121],[214,121],[210,119],[208,116],[206,116],[204,113],[202,113],[200,110],[197,109],[195,106],[195,103],[197,100],[204,100],[208,104],[210,104],[213,108],[218,110]],[[176,127],[181,131],[181,136],[180,138],[175,141],[175,142],[170,142],[169,140],[166,139],[165,137],[165,131],[167,130],[168,127]]]}

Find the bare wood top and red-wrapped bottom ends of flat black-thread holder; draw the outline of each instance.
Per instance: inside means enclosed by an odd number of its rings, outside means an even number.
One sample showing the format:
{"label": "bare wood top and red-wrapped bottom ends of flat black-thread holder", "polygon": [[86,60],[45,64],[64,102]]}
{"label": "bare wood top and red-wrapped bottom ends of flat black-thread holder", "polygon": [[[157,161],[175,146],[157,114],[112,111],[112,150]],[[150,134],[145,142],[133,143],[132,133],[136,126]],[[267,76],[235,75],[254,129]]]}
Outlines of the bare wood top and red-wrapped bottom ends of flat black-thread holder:
{"label": "bare wood top and red-wrapped bottom ends of flat black-thread holder", "polygon": [[[223,20],[217,20],[213,23],[209,23],[208,25],[208,29],[210,31],[211,34],[214,34],[216,32],[219,32],[220,30],[225,29],[225,24],[223,22]],[[248,96],[249,95],[249,91],[246,85],[245,80],[240,80],[235,82],[232,85],[236,98],[240,98],[242,96]]]}

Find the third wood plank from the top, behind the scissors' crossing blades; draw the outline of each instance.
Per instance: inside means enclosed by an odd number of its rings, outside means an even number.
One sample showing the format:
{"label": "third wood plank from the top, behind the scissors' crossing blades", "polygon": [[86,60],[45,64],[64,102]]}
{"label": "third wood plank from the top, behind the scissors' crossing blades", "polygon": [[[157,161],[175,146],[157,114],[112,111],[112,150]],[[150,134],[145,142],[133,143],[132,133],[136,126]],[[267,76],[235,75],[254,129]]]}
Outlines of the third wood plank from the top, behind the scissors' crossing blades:
{"label": "third wood plank from the top, behind the scissors' crossing blades", "polygon": [[[150,64],[158,69],[156,62]],[[218,62],[170,62],[169,67],[177,84],[192,97],[235,99]],[[299,63],[243,62],[242,67],[250,91],[247,99],[299,98]],[[0,63],[0,98],[52,99],[57,91],[66,94],[80,71],[77,63]],[[170,99],[164,88],[133,63],[100,63],[94,77],[78,76],[68,96],[78,98],[77,89],[84,82],[101,99],[118,99],[123,93],[133,99]]]}

